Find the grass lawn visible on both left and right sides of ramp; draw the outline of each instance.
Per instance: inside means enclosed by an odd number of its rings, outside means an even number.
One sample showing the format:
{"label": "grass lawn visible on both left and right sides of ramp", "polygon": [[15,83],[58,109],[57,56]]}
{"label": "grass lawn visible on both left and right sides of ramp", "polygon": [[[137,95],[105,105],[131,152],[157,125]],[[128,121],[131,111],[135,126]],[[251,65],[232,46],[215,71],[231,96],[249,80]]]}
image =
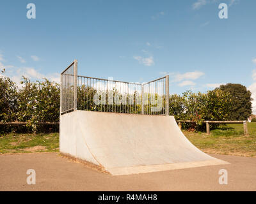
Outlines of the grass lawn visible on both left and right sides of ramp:
{"label": "grass lawn visible on both left and right sides of ramp", "polygon": [[[248,123],[249,136],[243,135],[243,124],[211,130],[211,135],[182,130],[196,147],[207,153],[256,157],[256,122]],[[1,153],[58,152],[59,133],[15,134],[0,136]]]}

